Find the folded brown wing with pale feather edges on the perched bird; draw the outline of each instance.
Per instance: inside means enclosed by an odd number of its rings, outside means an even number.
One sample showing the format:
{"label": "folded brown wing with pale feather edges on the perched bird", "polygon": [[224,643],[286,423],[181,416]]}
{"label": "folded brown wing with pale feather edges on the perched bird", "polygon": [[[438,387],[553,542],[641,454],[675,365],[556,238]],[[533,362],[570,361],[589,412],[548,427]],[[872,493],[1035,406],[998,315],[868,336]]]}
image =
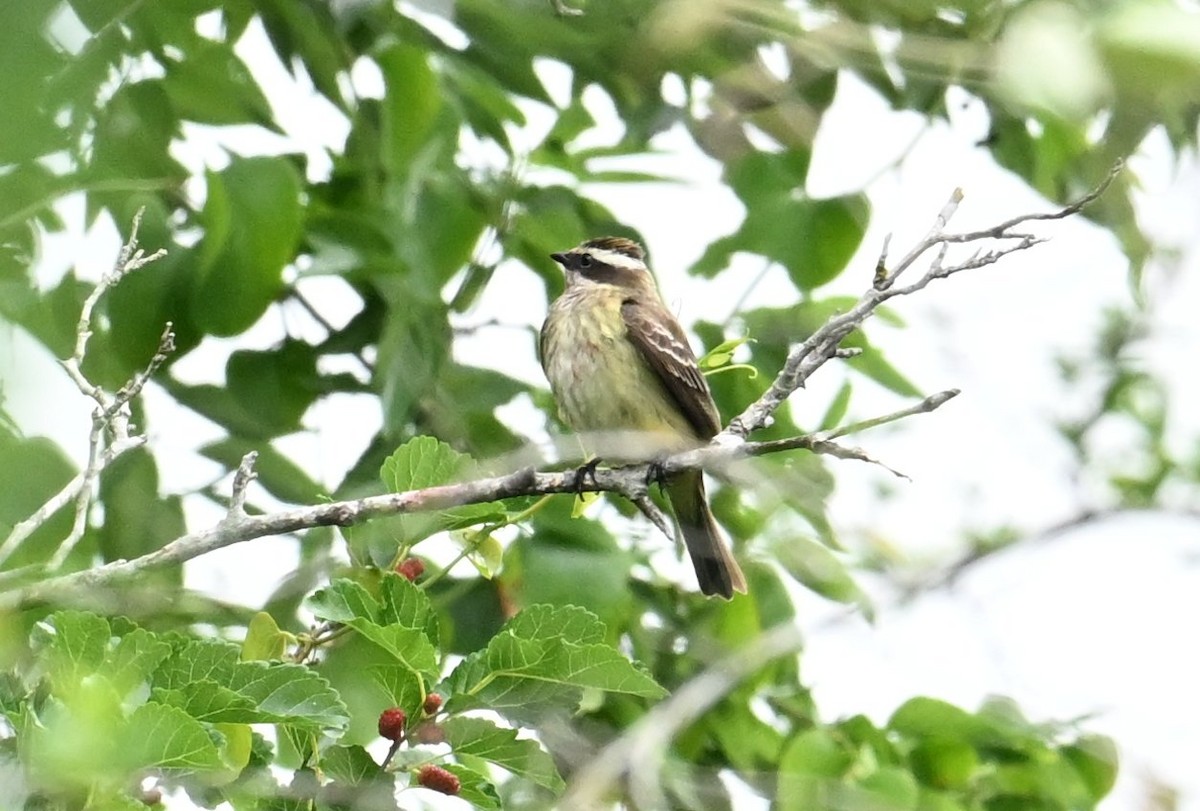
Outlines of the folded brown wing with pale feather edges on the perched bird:
{"label": "folded brown wing with pale feather edges on the perched bird", "polygon": [[701,439],[715,437],[721,429],[721,415],[679,322],[661,305],[637,299],[626,299],[620,314],[630,342],[659,376],[696,435]]}

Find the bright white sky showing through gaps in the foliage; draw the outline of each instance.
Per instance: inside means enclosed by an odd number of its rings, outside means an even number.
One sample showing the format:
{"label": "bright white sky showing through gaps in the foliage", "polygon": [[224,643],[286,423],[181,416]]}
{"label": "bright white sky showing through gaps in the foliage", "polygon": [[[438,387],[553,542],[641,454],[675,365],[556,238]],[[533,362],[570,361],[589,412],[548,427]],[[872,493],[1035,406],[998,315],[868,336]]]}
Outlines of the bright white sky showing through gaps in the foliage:
{"label": "bright white sky showing through gaps in the foliage", "polygon": [[[240,53],[256,74],[277,88],[272,98],[294,139],[290,146],[256,143],[272,151],[300,144],[312,154],[340,143],[342,122],[311,90],[288,79],[257,26]],[[563,78],[552,68],[547,73],[556,92]],[[360,70],[356,80],[360,88],[368,85],[370,71]],[[809,191],[830,196],[869,184],[874,214],[863,250],[835,282],[835,290],[859,292],[869,282],[884,234],[894,233],[893,252],[901,252],[925,233],[955,186],[966,191],[952,223],[959,229],[1052,208],[973,145],[986,121],[970,98],[960,101],[964,106],[955,106],[952,125],[926,126],[919,116],[889,110],[871,91],[844,77],[817,138]],[[526,143],[535,140],[536,130],[550,120],[545,110],[529,106],[529,112],[535,132],[523,136]],[[313,126],[314,121],[329,126]],[[220,166],[214,133],[194,128],[190,134],[194,145],[182,157],[197,167]],[[605,137],[604,130],[599,137]],[[221,139],[228,143],[228,133]],[[912,150],[901,158],[910,144]],[[710,239],[737,227],[740,205],[720,186],[718,167],[685,136],[666,133],[658,145],[665,155],[643,166],[682,182],[588,192],[646,235],[665,294],[685,322],[722,319],[746,280],[760,272],[761,262],[742,259],[713,284],[691,280],[684,269]],[[895,170],[883,172],[898,158]],[[1194,223],[1200,221],[1200,172],[1192,160],[1174,170],[1165,144],[1153,138],[1133,168],[1144,181],[1145,222],[1165,245],[1183,250],[1177,272],[1154,266],[1147,276],[1151,299],[1162,305],[1144,354],[1145,364],[1170,384],[1171,439],[1182,453],[1200,434],[1200,384],[1192,350],[1200,338],[1194,318],[1200,269],[1192,244]],[[102,226],[85,238],[79,233],[79,200],[67,200],[62,210],[74,230],[47,240],[43,278],[71,265],[85,277],[98,276],[115,254],[115,232]],[[1111,236],[1081,218],[1050,224],[1042,233],[1051,234],[1052,241],[899,302],[895,308],[908,329],[870,326],[871,337],[886,344],[892,361],[917,385],[930,392],[960,388],[962,395],[935,414],[858,438],[869,452],[908,474],[912,483],[898,483],[876,468],[832,462],[838,492],[830,512],[852,545],[887,545],[919,571],[925,563],[953,555],[964,528],[1012,523],[1036,530],[1093,506],[1072,489],[1069,457],[1050,427],[1055,417],[1078,413],[1087,401],[1063,386],[1051,360],[1060,353],[1081,354],[1093,340],[1102,307],[1128,300],[1126,262]],[[511,264],[500,272],[500,283],[493,282],[463,320],[478,324],[494,317],[516,326],[540,324],[545,313],[540,282]],[[306,283],[319,290],[323,302],[341,298],[349,314],[353,296],[340,282]],[[530,289],[539,294],[529,295]],[[748,306],[793,299],[784,271],[776,269]],[[338,320],[336,313],[331,318]],[[271,346],[284,320],[293,331],[311,329],[295,313],[281,319],[272,312],[248,342]],[[28,433],[52,435],[82,458],[86,403],[24,336],[10,330],[4,337],[0,379],[10,382],[6,408]],[[220,382],[232,348],[230,342],[206,342],[176,370],[190,379]],[[529,336],[520,329],[482,330],[461,341],[456,353],[466,362],[541,379]],[[14,371],[17,359],[22,367]],[[842,374],[829,365],[797,395],[802,419],[811,421],[823,413]],[[877,386],[856,385],[851,419],[901,404]],[[164,488],[187,492],[206,482],[216,468],[193,451],[220,432],[182,409],[170,409],[161,392],[149,396],[156,411],[151,441],[160,459],[167,461]],[[516,406],[506,414],[521,420],[523,410]],[[334,483],[378,426],[377,404],[366,397],[322,403],[306,416],[306,425],[307,432],[281,445]],[[1120,461],[1118,432],[1109,444]],[[877,493],[884,486],[898,497],[881,500]],[[199,499],[190,500],[188,507],[194,525],[218,517]],[[1002,554],[977,566],[955,588],[907,606],[890,605],[887,591],[875,589],[882,601],[875,626],[805,595],[800,617],[811,632],[803,657],[805,680],[829,719],[866,711],[883,722],[917,695],[972,709],[989,693],[1013,697],[1037,721],[1091,716],[1085,727],[1114,735],[1122,747],[1121,781],[1104,809],[1142,807],[1152,780],[1182,789],[1181,809],[1200,809],[1195,768],[1200,703],[1194,698],[1200,666],[1192,651],[1192,619],[1200,613],[1195,539],[1194,523],[1164,517],[1109,522]],[[259,563],[247,565],[251,553],[264,565],[274,561],[280,573],[281,564],[295,559],[290,541],[266,539],[190,564],[188,582],[250,603],[262,600],[276,583],[263,576]],[[864,583],[872,585],[869,579]]]}

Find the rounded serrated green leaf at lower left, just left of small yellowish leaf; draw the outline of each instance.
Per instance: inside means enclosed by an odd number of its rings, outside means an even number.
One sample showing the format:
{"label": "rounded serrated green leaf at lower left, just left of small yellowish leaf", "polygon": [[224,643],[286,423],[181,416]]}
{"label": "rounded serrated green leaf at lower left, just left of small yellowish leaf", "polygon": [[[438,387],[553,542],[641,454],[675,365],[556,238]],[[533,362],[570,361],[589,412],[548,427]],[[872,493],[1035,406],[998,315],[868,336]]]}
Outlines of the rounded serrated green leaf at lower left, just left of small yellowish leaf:
{"label": "rounded serrated green leaf at lower left, just left of small yellowish leaf", "polygon": [[130,769],[222,768],[221,753],[199,721],[178,707],[146,702],[133,710],[115,750]]}

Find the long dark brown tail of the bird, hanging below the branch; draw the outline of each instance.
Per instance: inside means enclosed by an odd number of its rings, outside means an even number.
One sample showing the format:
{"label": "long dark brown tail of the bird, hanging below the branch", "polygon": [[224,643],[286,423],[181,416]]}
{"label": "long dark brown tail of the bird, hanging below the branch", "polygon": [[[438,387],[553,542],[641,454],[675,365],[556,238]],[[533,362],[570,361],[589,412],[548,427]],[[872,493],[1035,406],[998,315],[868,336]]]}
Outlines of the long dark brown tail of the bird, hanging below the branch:
{"label": "long dark brown tail of the bird, hanging below the branch", "polygon": [[721,540],[713,512],[704,495],[704,476],[700,470],[679,474],[667,485],[667,498],[683,531],[700,590],[730,600],[734,591],[746,593],[746,578]]}

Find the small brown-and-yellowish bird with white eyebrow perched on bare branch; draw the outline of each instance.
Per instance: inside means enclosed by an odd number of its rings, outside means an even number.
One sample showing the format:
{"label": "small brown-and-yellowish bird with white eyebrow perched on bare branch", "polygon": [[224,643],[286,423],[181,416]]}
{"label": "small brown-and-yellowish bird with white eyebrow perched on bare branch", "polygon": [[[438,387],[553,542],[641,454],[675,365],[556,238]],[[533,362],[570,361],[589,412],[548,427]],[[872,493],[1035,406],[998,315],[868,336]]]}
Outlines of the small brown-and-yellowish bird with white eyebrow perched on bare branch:
{"label": "small brown-and-yellowish bird with white eyebrow perched on bare branch", "polygon": [[[708,382],[679,322],[664,306],[642,247],[588,240],[551,258],[566,289],[541,328],[541,366],[563,420],[602,458],[646,461],[706,444],[721,429]],[[666,482],[700,590],[745,593],[721,540],[700,470]]]}

